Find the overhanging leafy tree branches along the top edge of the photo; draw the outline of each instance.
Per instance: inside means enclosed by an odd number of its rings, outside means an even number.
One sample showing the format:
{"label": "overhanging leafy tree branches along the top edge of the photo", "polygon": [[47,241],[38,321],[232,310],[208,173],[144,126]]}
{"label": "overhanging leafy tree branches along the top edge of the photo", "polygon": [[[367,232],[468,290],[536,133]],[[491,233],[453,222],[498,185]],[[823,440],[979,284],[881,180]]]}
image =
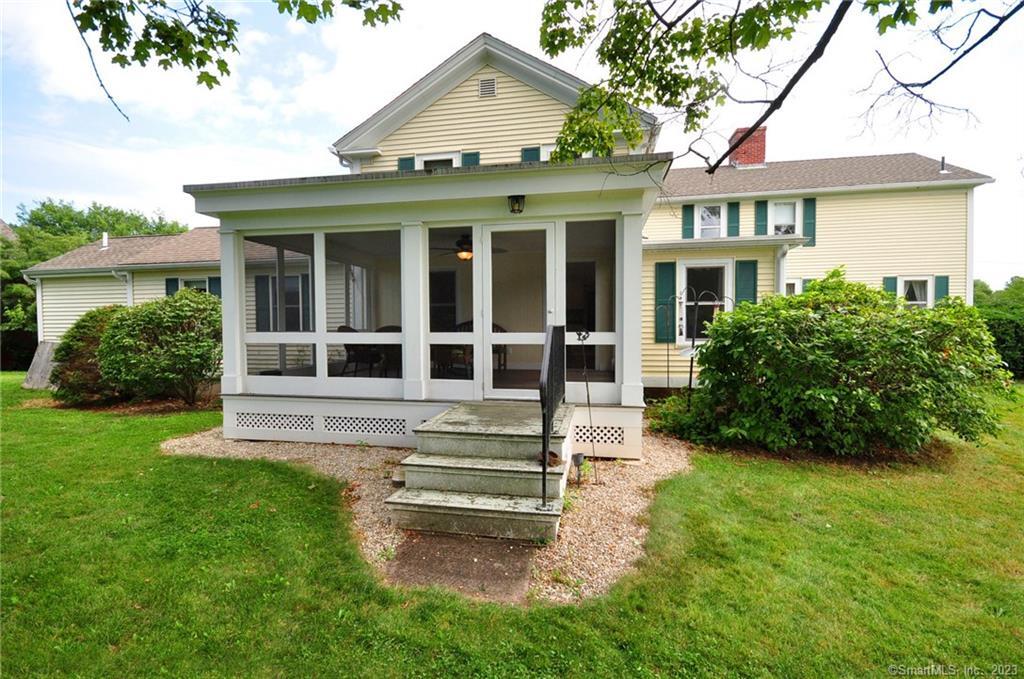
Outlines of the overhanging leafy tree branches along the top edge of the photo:
{"label": "overhanging leafy tree branches along the top edge of the photo", "polygon": [[[164,69],[197,73],[207,87],[230,73],[228,56],[238,51],[239,23],[203,0],[66,0],[93,66],[89,34],[114,63],[127,68],[151,59]],[[334,16],[337,7],[360,11],[365,26],[396,20],[397,0],[275,0],[278,10],[314,24]],[[557,56],[596,45],[607,77],[583,90],[568,113],[552,160],[571,162],[584,153],[606,156],[623,137],[632,146],[643,140],[640,110],[654,108],[686,131],[700,133],[712,112],[727,102],[758,107],[746,133],[730,139],[722,154],[708,151],[697,134],[681,155],[700,157],[713,173],[750,134],[790,96],[828,48],[851,9],[874,17],[876,31],[906,30],[928,24],[933,40],[947,50],[946,62],[931,65],[925,76],[898,75],[881,52],[879,74],[888,86],[866,114],[887,102],[909,119],[966,109],[934,101],[928,88],[974,53],[1024,8],[1024,0],[547,0],[541,15],[541,47]],[[813,48],[804,55],[779,49],[795,35],[824,22]],[[791,50],[792,51],[792,50]],[[760,66],[759,66],[760,63]],[[766,66],[765,66],[766,63]],[[774,84],[782,77],[781,85]],[[750,93],[751,86],[755,92]],[[924,113],[919,114],[920,111]],[[119,108],[120,112],[121,109]],[[122,112],[122,115],[124,113]],[[127,118],[127,116],[126,116]]]}

